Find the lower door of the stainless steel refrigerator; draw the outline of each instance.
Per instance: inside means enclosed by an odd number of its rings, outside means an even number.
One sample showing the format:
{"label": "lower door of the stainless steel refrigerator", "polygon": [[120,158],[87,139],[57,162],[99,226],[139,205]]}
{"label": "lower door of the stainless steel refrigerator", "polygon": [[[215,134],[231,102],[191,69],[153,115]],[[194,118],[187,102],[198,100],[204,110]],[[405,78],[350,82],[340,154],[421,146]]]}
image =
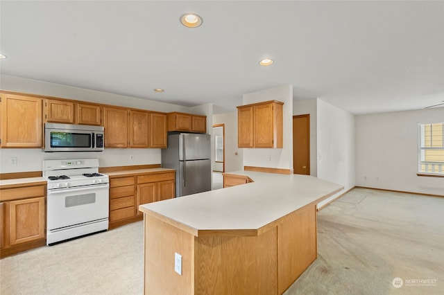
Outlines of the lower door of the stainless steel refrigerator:
{"label": "lower door of the stainless steel refrigerator", "polygon": [[211,190],[211,160],[180,161],[176,197]]}

